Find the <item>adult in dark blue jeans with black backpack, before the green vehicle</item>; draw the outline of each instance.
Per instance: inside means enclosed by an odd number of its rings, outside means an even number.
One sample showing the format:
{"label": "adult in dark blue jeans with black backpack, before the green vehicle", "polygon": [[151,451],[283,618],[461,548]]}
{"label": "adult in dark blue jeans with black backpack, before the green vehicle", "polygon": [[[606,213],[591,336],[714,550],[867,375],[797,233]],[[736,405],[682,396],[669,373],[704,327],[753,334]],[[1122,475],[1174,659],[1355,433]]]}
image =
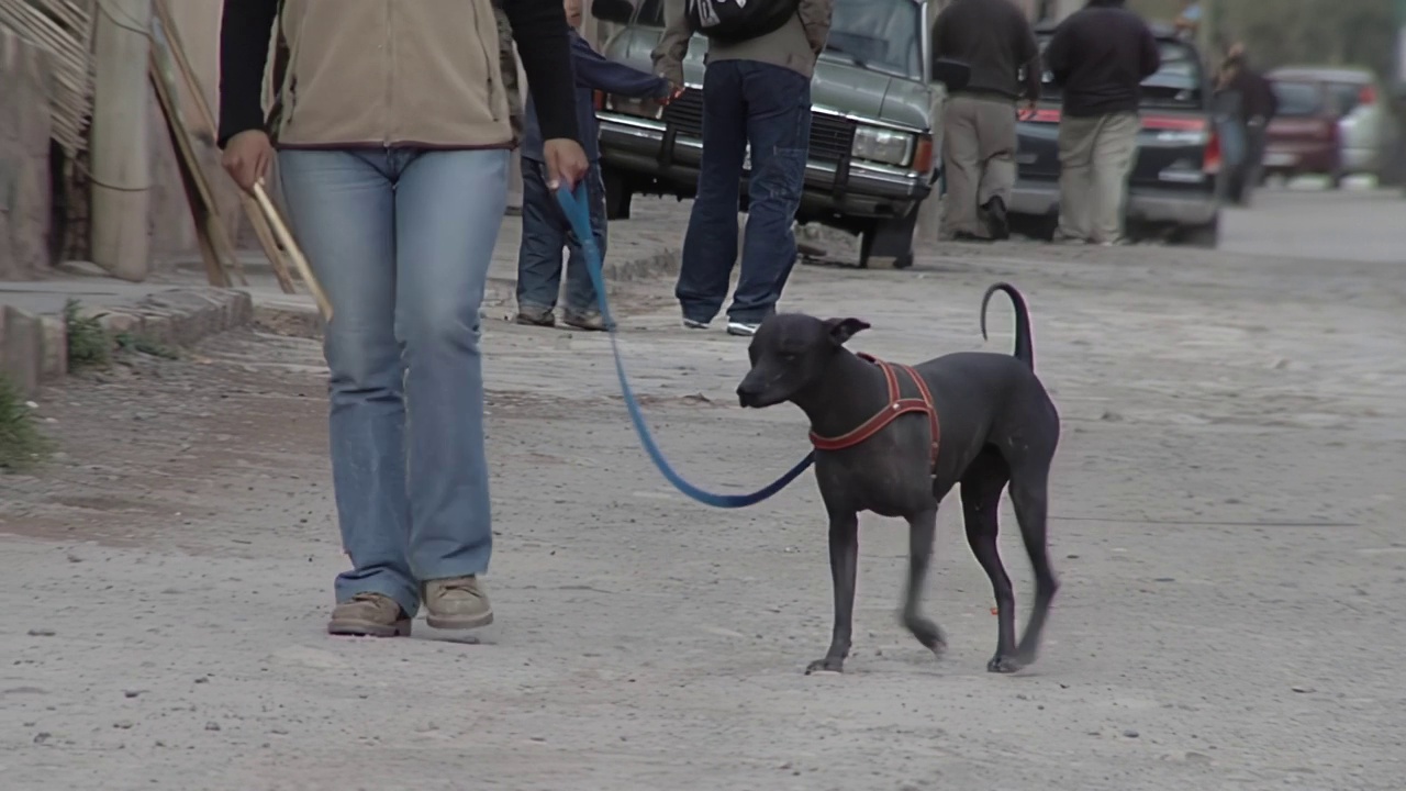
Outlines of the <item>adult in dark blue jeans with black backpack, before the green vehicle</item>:
{"label": "adult in dark blue jeans with black backpack, before the green vehicle", "polygon": [[[692,35],[685,3],[697,1],[665,0],[666,28],[654,49],[654,70],[673,84],[683,84]],[[703,160],[675,289],[685,327],[706,328],[727,300],[737,263],[738,182],[748,148],[742,273],[727,311],[727,331],[752,335],[776,311],[796,263],[792,224],[810,155],[810,79],[830,35],[832,8],[832,0],[800,0],[794,17],[773,32],[737,44],[709,42]]]}

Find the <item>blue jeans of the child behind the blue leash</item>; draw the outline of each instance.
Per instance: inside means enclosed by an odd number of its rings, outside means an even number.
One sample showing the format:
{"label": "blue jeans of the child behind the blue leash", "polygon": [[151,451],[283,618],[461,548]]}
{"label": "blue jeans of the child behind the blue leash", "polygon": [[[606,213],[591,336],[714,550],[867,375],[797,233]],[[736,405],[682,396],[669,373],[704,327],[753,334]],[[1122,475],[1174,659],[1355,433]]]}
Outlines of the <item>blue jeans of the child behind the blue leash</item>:
{"label": "blue jeans of the child behind the blue leash", "polygon": [[[567,310],[582,314],[596,307],[596,289],[591,284],[581,243],[571,231],[557,196],[547,187],[541,162],[523,158],[523,241],[517,249],[517,308],[551,310],[561,293],[561,249],[569,248],[567,262]],[[606,255],[606,189],[600,166],[586,173],[586,200],[591,201],[591,231]]]}

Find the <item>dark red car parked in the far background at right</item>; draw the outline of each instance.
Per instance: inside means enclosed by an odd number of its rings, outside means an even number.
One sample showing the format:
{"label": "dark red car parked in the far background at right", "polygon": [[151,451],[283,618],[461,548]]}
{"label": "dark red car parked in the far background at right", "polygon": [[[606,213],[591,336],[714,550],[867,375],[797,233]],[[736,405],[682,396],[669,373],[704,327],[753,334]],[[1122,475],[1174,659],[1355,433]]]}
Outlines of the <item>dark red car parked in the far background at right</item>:
{"label": "dark red car parked in the far background at right", "polygon": [[1279,113],[1270,121],[1264,151],[1264,175],[1286,179],[1301,173],[1322,173],[1341,186],[1343,146],[1339,131],[1341,113],[1326,83],[1272,79]]}

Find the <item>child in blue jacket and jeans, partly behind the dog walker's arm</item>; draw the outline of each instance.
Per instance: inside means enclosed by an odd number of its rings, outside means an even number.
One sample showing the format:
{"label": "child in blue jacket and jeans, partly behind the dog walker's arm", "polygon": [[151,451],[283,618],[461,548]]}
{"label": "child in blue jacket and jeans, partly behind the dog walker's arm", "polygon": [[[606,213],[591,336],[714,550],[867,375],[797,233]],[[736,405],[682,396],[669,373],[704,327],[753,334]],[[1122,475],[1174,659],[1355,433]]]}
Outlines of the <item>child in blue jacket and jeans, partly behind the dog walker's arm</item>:
{"label": "child in blue jacket and jeans, partly behind the dog walker's arm", "polygon": [[[602,262],[606,255],[606,189],[600,180],[600,145],[596,131],[596,110],[592,91],[614,96],[654,99],[668,103],[675,96],[673,86],[664,77],[631,69],[606,59],[591,48],[575,28],[581,25],[581,0],[565,0],[567,21],[571,24],[571,59],[576,72],[576,125],[586,146],[591,170],[586,173],[586,200],[591,204],[591,232],[596,239]],[[571,231],[557,196],[547,189],[543,173],[541,127],[537,124],[536,101],[527,96],[526,141],[522,151],[523,166],[523,238],[517,252],[517,324],[551,327],[557,294],[561,291],[561,248],[571,251],[567,266],[567,308],[562,321],[578,329],[606,329],[596,307],[596,289],[586,270],[581,243]]]}

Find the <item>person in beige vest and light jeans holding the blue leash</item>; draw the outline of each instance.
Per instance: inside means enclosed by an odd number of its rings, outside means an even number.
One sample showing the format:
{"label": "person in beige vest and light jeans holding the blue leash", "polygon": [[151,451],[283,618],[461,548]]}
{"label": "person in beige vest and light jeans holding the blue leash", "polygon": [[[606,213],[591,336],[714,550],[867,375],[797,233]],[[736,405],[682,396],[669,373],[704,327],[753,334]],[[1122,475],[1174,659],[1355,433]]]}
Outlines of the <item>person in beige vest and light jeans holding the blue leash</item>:
{"label": "person in beige vest and light jeans holding the blue leash", "polygon": [[[575,183],[588,163],[561,3],[503,10],[543,100],[548,179]],[[276,20],[291,56],[267,124]],[[422,604],[432,626],[489,624],[478,308],[515,141],[499,59],[465,52],[498,52],[494,10],[225,0],[219,46],[224,165],[249,190],[276,142],[290,220],[332,303],[332,477],[353,569],[336,580],[328,631],[408,635]]]}

